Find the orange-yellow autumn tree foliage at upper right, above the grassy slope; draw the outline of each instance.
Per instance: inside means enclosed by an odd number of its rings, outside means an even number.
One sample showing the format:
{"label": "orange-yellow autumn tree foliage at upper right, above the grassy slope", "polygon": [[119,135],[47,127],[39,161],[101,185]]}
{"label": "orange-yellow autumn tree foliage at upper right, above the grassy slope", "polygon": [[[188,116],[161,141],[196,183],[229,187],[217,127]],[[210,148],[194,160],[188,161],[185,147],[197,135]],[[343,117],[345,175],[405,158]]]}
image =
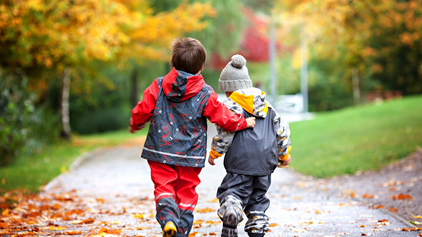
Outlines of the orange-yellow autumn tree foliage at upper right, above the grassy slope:
{"label": "orange-yellow autumn tree foliage at upper right, above the grassy slope", "polygon": [[321,59],[343,57],[352,72],[345,75],[422,92],[420,0],[278,0],[276,11],[281,22],[306,33]]}

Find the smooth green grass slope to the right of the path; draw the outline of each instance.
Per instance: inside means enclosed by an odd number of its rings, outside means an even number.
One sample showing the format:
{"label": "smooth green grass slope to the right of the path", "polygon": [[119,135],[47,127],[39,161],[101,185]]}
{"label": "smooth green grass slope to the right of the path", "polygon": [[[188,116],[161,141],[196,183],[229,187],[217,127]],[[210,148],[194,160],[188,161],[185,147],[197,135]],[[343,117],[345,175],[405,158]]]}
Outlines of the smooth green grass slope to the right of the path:
{"label": "smooth green grass slope to the right of the path", "polygon": [[422,147],[422,96],[318,113],[290,131],[298,172],[322,178],[379,170]]}

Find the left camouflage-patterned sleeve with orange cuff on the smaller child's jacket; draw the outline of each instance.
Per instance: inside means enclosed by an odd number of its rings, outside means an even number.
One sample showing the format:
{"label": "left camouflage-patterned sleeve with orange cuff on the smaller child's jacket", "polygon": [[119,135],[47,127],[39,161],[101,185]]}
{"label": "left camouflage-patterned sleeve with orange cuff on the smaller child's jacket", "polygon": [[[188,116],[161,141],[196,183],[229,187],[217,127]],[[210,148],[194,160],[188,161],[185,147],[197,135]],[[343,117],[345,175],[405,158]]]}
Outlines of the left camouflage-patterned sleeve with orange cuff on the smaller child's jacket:
{"label": "left camouflage-patterned sleeve with orange cuff on the smaller child's jacket", "polygon": [[[227,98],[227,100],[225,100],[224,105],[226,105],[232,113],[243,115],[242,107],[236,104],[230,98]],[[217,127],[217,135],[213,137],[211,143],[210,156],[214,159],[217,159],[229,150],[236,132],[227,132],[217,124],[215,126]]]}

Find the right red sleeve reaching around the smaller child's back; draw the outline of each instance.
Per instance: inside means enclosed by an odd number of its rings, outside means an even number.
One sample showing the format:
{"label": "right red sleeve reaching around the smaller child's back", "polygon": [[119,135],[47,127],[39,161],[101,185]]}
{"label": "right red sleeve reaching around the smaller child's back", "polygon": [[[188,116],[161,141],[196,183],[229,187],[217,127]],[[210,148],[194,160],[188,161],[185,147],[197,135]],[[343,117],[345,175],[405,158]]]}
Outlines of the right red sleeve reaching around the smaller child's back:
{"label": "right red sleeve reaching around the smaller child's back", "polygon": [[204,109],[203,115],[213,124],[217,124],[226,131],[234,132],[245,129],[246,119],[241,114],[233,114],[230,110],[217,101],[217,94],[212,90],[208,103]]}

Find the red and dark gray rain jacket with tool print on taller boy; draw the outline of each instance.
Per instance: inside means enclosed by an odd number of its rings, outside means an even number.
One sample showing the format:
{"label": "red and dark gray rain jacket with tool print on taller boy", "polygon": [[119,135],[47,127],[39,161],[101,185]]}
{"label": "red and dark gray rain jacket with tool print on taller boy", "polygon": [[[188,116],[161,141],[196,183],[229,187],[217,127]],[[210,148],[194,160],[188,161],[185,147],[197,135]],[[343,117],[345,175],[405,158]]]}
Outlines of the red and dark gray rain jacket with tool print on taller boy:
{"label": "red and dark gray rain jacket with tool print on taller boy", "polygon": [[154,162],[204,167],[207,121],[227,131],[246,128],[246,119],[217,101],[217,94],[203,80],[173,68],[143,92],[132,110],[130,126],[139,130],[150,121],[141,157]]}

